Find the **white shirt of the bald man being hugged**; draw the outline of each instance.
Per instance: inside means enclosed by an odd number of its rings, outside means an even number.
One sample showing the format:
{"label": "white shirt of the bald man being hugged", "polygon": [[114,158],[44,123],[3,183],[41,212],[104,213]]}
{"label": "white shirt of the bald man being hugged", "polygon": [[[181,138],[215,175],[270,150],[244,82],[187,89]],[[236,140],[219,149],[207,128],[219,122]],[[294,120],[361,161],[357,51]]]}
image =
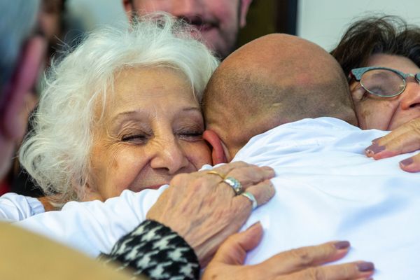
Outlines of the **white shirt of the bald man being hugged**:
{"label": "white shirt of the bald man being hugged", "polygon": [[[349,240],[342,260],[370,260],[375,279],[420,279],[419,174],[398,161],[375,161],[363,151],[386,132],[363,131],[334,118],[306,119],[253,137],[235,160],[269,165],[276,195],[256,209],[246,226],[261,221],[262,243],[249,264],[289,248]],[[19,224],[92,256],[144,221],[160,190],[123,192],[102,202],[70,202],[61,212],[39,214]]]}

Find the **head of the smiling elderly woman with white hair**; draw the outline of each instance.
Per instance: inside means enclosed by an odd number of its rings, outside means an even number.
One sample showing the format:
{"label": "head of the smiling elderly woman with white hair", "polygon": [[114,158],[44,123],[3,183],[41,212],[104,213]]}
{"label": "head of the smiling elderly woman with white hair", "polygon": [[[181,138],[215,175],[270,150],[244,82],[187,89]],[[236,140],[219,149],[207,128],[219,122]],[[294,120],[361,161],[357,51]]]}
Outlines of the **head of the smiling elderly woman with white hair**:
{"label": "head of the smiling elderly woman with white hair", "polygon": [[218,60],[190,30],[151,15],[52,65],[20,151],[46,195],[106,200],[210,163],[199,102]]}

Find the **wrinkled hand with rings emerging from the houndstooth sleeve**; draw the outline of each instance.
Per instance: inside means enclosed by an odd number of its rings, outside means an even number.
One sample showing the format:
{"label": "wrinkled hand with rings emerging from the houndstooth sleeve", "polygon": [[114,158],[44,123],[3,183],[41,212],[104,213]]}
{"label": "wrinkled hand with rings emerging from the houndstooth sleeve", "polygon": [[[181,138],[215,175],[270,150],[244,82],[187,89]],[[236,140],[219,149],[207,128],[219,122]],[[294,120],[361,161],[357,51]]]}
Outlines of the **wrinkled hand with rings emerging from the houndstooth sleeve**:
{"label": "wrinkled hand with rings emerging from the houndstooth sleeve", "polygon": [[242,190],[251,193],[261,205],[274,195],[269,181],[273,176],[272,168],[245,162],[223,165],[210,173],[179,174],[146,218],[167,225],[181,235],[204,267],[221,243],[241,228],[253,209],[251,200],[237,195],[223,179],[237,179]]}

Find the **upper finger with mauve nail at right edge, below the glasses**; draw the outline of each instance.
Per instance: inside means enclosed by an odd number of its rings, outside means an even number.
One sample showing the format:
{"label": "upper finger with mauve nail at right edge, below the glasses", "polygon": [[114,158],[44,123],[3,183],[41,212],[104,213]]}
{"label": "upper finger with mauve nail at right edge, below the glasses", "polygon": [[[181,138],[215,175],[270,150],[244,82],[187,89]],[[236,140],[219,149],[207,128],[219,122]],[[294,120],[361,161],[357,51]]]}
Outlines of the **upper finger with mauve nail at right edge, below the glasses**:
{"label": "upper finger with mauve nail at right edge, below the glasses", "polygon": [[394,155],[410,153],[420,149],[420,139],[416,134],[405,133],[395,137],[386,144],[377,142],[366,148],[366,154],[375,160],[390,158]]}

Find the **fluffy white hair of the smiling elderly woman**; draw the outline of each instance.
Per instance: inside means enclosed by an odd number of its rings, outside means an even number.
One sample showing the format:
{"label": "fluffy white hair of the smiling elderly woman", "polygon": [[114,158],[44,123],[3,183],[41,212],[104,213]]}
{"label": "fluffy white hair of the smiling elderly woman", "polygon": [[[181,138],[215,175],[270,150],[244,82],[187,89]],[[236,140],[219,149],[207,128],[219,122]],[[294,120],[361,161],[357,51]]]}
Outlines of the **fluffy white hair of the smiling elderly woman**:
{"label": "fluffy white hair of the smiling elderly woman", "polygon": [[[194,34],[193,34],[194,33]],[[129,67],[167,66],[181,71],[201,102],[218,59],[196,39],[197,31],[165,13],[137,19],[130,28],[93,31],[44,78],[34,129],[20,148],[20,162],[57,203],[83,199],[91,171],[94,111],[113,94],[113,78]]]}

